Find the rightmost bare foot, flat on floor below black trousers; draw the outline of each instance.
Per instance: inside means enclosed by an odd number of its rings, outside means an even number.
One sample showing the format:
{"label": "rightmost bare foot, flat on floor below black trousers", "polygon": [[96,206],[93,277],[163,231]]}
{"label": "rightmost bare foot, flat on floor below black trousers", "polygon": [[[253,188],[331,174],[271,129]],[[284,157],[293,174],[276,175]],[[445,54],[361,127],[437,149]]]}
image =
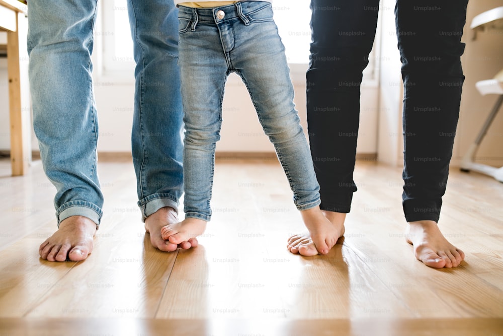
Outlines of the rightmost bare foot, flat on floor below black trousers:
{"label": "rightmost bare foot, flat on floor below black trousers", "polygon": [[414,255],[425,265],[434,268],[456,267],[465,254],[452,245],[440,232],[434,221],[407,223],[406,239],[414,247]]}

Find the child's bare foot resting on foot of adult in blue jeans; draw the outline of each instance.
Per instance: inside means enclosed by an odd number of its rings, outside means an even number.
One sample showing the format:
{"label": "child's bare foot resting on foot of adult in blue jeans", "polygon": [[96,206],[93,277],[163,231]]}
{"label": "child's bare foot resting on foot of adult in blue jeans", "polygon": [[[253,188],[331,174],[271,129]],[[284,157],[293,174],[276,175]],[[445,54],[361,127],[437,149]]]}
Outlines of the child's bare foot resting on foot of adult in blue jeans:
{"label": "child's bare foot resting on foot of adult in blue jeans", "polygon": [[186,241],[196,241],[196,237],[202,235],[206,229],[206,221],[197,218],[186,218],[182,222],[168,224],[160,230],[162,239],[172,244],[180,244],[183,249],[196,247],[194,244],[184,245]]}

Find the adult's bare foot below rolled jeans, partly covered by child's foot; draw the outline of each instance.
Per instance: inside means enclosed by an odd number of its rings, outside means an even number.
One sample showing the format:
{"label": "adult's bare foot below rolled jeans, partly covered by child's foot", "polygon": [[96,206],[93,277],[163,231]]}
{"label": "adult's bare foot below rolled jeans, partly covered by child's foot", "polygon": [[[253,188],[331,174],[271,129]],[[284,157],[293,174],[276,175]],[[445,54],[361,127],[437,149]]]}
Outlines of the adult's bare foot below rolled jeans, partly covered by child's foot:
{"label": "adult's bare foot below rolled jeans, partly covered by child's foot", "polygon": [[183,249],[196,247],[198,241],[195,237],[180,241],[179,243],[172,243],[162,238],[161,229],[166,225],[174,223],[178,223],[178,215],[175,209],[169,207],[160,208],[145,219],[145,231],[150,234],[150,243],[152,246],[164,252],[172,252],[179,247]]}

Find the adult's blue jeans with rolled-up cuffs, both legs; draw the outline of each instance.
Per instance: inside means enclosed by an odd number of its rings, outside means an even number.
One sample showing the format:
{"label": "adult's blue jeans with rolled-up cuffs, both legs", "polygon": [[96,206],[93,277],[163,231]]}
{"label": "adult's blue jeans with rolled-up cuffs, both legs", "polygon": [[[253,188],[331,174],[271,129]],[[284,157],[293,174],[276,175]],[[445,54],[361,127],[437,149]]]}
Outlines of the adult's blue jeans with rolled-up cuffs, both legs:
{"label": "adult's blue jeans with rolled-up cuffs, both legs", "polygon": [[[45,173],[57,189],[58,225],[74,215],[96,224],[102,217],[91,77],[96,7],[97,0],[29,4],[34,129]],[[145,218],[161,207],[177,209],[183,191],[178,10],[171,0],[129,0],[128,11],[137,63],[132,150]]]}

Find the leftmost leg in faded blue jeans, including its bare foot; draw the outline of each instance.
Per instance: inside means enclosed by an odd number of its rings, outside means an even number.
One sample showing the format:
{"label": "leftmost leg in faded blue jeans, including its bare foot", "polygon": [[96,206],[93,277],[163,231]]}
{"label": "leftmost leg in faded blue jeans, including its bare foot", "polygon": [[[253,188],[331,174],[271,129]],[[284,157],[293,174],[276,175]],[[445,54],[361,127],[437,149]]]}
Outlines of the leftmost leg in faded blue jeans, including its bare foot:
{"label": "leftmost leg in faded blue jeans, including its bare foot", "polygon": [[93,249],[103,194],[96,171],[98,121],[92,89],[96,0],[30,3],[28,52],[33,123],[59,230],[40,245],[49,261]]}

